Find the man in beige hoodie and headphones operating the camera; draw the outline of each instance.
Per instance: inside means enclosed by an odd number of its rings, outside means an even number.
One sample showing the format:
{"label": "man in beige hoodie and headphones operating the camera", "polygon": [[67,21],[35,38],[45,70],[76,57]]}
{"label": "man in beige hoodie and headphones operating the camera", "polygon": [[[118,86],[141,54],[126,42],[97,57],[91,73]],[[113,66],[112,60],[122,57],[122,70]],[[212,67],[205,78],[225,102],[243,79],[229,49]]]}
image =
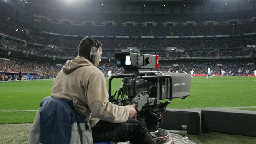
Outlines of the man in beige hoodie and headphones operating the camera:
{"label": "man in beige hoodie and headphones operating the camera", "polygon": [[149,130],[137,120],[135,104],[118,106],[108,100],[106,78],[97,68],[102,44],[92,37],[78,46],[78,56],[67,61],[53,81],[51,96],[73,99],[77,111],[88,118],[94,142],[155,144]]}

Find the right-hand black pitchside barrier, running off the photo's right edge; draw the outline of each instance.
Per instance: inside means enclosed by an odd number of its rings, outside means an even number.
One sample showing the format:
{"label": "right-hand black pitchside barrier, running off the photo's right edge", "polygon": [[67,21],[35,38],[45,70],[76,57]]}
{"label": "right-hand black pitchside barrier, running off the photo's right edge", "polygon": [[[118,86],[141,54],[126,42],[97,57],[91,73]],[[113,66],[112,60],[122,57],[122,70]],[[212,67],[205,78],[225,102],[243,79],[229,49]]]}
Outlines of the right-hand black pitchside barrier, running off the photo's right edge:
{"label": "right-hand black pitchside barrier, running off the photo's right edge", "polygon": [[256,137],[256,111],[202,109],[202,130]]}

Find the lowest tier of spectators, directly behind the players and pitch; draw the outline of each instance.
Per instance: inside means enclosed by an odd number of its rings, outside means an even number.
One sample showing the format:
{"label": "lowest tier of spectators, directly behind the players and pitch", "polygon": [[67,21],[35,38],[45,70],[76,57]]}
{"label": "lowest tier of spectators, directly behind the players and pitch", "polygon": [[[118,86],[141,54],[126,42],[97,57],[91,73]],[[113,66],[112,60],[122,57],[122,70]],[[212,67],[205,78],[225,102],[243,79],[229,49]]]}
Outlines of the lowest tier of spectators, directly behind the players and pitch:
{"label": "lowest tier of spectators, directly behind the players and pitch", "polygon": [[[21,71],[30,76],[30,79],[46,79],[55,78],[62,69],[65,62],[47,62],[34,61],[29,59],[18,59],[10,57],[9,60],[0,59],[0,75],[4,80],[17,80],[18,73]],[[251,63],[251,64],[250,64]],[[221,66],[218,66],[220,65]],[[193,70],[195,74],[206,74],[210,66],[214,74],[220,74],[223,69],[226,73],[232,71],[232,75],[238,75],[238,70],[242,73],[249,70],[252,74],[256,69],[253,61],[212,61],[212,62],[159,62],[159,71],[175,71],[182,70],[187,73]],[[106,75],[107,71],[111,71],[114,75],[123,74],[124,69],[117,67],[114,62],[101,62],[98,68]],[[28,79],[28,78],[26,78]]]}

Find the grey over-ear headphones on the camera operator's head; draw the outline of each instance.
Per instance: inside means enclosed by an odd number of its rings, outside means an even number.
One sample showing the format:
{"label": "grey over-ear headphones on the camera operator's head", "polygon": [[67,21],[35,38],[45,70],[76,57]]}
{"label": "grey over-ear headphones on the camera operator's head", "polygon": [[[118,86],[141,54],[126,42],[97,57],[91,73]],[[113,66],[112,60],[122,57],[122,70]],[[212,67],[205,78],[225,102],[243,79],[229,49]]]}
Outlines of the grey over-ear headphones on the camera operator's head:
{"label": "grey over-ear headphones on the camera operator's head", "polygon": [[96,40],[95,38],[92,38],[90,36],[87,36],[84,38],[84,40],[90,39],[94,43],[94,45],[91,46],[91,51],[90,51],[90,61],[95,64],[99,57],[99,41]]}

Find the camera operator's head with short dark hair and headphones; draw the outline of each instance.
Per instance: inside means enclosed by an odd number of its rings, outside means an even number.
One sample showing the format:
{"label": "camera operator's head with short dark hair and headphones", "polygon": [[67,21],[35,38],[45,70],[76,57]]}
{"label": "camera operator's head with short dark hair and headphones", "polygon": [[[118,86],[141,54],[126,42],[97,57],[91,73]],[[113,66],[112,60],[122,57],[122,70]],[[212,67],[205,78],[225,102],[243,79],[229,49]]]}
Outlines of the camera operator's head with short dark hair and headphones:
{"label": "camera operator's head with short dark hair and headphones", "polygon": [[102,43],[92,37],[85,37],[78,46],[78,56],[91,61],[98,66],[101,61]]}

